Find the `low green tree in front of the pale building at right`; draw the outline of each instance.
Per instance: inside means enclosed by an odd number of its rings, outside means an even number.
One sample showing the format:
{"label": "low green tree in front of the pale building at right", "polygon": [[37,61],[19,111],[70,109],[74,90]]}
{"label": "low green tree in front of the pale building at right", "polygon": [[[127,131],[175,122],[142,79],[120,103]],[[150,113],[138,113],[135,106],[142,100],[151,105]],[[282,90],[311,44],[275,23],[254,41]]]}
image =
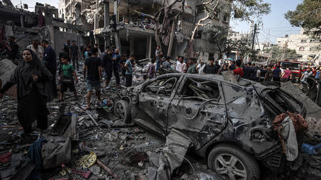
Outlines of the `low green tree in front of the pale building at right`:
{"label": "low green tree in front of the pale building at right", "polygon": [[299,54],[295,50],[290,50],[288,48],[280,48],[278,46],[274,46],[270,49],[265,49],[264,52],[270,54],[269,60],[271,61],[281,61],[284,59],[297,59]]}

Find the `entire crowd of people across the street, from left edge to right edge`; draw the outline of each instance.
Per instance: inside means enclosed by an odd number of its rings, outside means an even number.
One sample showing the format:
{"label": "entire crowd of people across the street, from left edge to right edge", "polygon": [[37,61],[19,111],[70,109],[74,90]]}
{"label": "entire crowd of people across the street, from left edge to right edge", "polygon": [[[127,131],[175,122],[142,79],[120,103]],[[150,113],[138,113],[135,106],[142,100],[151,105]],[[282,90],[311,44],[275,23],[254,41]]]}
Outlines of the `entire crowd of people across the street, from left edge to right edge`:
{"label": "entire crowd of people across the street, from left edge to right edge", "polygon": [[[15,38],[10,36],[7,43],[8,57],[16,59],[19,46],[15,43]],[[105,88],[110,88],[110,80],[114,76],[117,87],[121,84],[120,73],[123,77],[125,87],[132,86],[133,66],[135,57],[121,55],[115,47],[107,48],[100,52],[98,45],[89,43],[82,53],[75,40],[67,40],[59,53],[59,68],[57,69],[56,52],[47,40],[32,40],[22,53],[22,63],[20,63],[10,80],[0,89],[0,98],[10,87],[17,84],[17,115],[24,133],[27,135],[32,132],[31,124],[37,121],[40,131],[47,129],[47,110],[46,103],[58,97],[56,75],[58,71],[60,94],[59,100],[64,99],[64,93],[69,89],[77,99],[75,83],[78,82],[76,70],[79,70],[79,59],[84,59],[84,80],[87,86],[87,107],[89,110],[91,95],[95,89],[98,101],[100,101],[100,84],[105,79]],[[292,72],[288,68],[283,70],[279,66],[255,66],[255,63],[242,61],[216,61],[214,58],[205,63],[204,59],[197,62],[195,58],[184,59],[177,57],[176,64],[172,64],[170,57],[163,56],[160,47],[156,48],[156,58],[151,59],[147,64],[147,77],[156,77],[159,68],[171,68],[179,73],[193,74],[218,74],[221,75],[225,70],[232,70],[234,75],[256,82],[288,82],[292,79]],[[302,91],[308,89],[308,78],[313,77],[320,80],[320,67],[308,68],[300,77]]]}

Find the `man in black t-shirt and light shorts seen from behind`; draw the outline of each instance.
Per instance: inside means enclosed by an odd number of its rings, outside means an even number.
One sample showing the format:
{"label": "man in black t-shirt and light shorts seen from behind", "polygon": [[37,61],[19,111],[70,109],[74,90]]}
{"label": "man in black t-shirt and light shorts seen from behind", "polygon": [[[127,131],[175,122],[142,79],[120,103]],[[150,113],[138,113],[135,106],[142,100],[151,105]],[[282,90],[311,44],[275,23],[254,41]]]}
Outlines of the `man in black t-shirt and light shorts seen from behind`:
{"label": "man in black t-shirt and light shorts seen from behind", "polygon": [[[91,51],[91,57],[87,58],[84,62],[84,79],[86,79],[87,73],[87,107],[86,110],[90,109],[90,98],[93,89],[96,90],[96,96],[100,101],[100,82],[102,79],[101,75],[101,60],[97,57],[98,49],[93,48]],[[88,70],[88,72],[87,72]]]}

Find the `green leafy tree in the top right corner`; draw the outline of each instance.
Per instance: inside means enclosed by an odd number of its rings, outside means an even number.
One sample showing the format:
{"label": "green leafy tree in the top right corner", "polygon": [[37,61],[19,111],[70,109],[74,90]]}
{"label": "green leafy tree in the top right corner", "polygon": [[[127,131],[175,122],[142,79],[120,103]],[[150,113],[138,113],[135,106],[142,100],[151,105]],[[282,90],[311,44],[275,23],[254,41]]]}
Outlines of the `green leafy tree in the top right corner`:
{"label": "green leafy tree in the top right corner", "polygon": [[302,27],[312,37],[321,35],[321,1],[304,0],[296,10],[285,13],[285,19],[294,27]]}

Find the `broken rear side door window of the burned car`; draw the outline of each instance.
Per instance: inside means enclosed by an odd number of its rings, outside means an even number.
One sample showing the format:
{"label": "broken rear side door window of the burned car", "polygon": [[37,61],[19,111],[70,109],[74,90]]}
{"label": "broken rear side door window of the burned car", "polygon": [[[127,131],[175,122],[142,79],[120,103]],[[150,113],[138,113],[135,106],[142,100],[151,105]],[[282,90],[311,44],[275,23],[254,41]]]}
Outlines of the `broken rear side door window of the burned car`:
{"label": "broken rear side door window of the burned car", "polygon": [[220,91],[217,82],[189,78],[186,80],[179,95],[183,98],[191,98],[197,101],[218,100],[220,98]]}

